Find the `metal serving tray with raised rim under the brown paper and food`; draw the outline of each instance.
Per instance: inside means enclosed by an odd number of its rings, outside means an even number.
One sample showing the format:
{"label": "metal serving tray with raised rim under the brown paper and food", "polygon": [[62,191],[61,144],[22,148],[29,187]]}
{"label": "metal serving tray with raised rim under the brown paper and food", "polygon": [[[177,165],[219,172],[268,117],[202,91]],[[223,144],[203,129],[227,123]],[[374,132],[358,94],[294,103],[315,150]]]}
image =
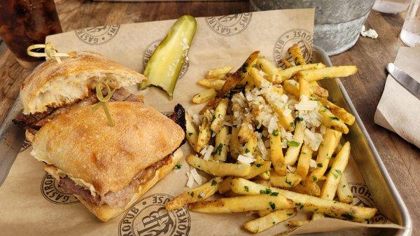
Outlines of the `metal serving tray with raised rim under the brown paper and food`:
{"label": "metal serving tray with raised rim under the brown paper and food", "polygon": [[[332,66],[330,58],[325,52],[316,46],[313,51],[313,62],[323,62],[329,67]],[[351,155],[358,165],[360,174],[363,176],[377,208],[382,215],[389,220],[402,225],[405,229],[377,229],[363,228],[360,230],[346,230],[339,232],[323,232],[311,235],[381,235],[381,236],[409,236],[412,233],[412,220],[407,207],[398,190],[395,188],[384,163],[382,162],[372,140],[367,134],[353,103],[347,95],[344,86],[338,79],[329,79],[321,82],[321,85],[330,92],[330,99],[335,104],[351,111],[356,116],[356,123],[349,127],[349,134],[345,139],[351,142]],[[12,119],[22,111],[22,104],[19,99],[8,111],[6,119],[0,126],[0,186],[8,174],[8,171],[15,160],[16,155],[22,146],[24,132],[12,123]]]}

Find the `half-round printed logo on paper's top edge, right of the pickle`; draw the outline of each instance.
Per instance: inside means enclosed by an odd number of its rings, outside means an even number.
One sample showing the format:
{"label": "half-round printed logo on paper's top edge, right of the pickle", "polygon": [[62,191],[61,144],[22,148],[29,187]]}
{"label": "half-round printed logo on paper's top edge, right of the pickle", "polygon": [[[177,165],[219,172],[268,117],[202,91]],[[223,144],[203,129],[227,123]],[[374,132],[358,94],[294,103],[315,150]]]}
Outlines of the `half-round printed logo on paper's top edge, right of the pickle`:
{"label": "half-round printed logo on paper's top edge, right of the pickle", "polygon": [[243,32],[251,22],[251,18],[252,13],[240,13],[208,17],[206,22],[216,34],[232,36]]}

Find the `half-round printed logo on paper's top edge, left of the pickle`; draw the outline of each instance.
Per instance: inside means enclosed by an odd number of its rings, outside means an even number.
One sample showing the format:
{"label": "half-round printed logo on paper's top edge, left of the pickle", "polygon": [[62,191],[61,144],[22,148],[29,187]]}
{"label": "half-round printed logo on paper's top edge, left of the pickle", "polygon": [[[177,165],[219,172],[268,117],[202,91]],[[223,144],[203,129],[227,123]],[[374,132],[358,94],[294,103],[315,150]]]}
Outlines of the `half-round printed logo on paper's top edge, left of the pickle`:
{"label": "half-round printed logo on paper's top edge, left of the pickle", "polygon": [[90,27],[85,29],[76,29],[74,32],[80,41],[90,45],[99,45],[106,43],[116,36],[120,25],[106,25],[100,27]]}

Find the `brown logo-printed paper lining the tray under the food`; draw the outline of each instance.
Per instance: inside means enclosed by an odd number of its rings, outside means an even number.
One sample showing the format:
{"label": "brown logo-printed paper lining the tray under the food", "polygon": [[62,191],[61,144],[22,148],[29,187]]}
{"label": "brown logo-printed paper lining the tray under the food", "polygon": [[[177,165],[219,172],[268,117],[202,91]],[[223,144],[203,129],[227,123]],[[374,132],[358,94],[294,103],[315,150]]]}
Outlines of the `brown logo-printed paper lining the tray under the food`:
{"label": "brown logo-printed paper lining the tray under the food", "polygon": [[[287,48],[293,43],[299,43],[304,57],[309,60],[313,22],[313,9],[197,18],[197,32],[189,60],[176,85],[174,99],[169,100],[156,88],[139,92],[133,86],[130,90],[143,94],[147,104],[162,112],[172,111],[178,103],[186,109],[199,111],[202,105],[194,105],[190,99],[203,90],[196,81],[207,69],[225,65],[239,67],[253,50],[260,50],[260,55],[276,61],[279,66],[278,60],[286,55]],[[49,36],[47,41],[59,51],[92,50],[126,67],[143,71],[145,58],[150,57],[173,23],[174,20],[165,20],[78,29]],[[186,208],[168,213],[162,208],[171,197],[188,190],[186,172],[190,167],[185,160],[180,172],[170,172],[125,214],[103,223],[75,197],[57,188],[57,182],[43,171],[44,164],[29,155],[30,149],[18,155],[0,187],[1,235],[250,235],[241,225],[255,216],[200,214]],[[190,153],[188,145],[183,146],[183,151],[185,155]],[[370,192],[352,159],[345,174],[355,195],[353,204],[374,207]],[[306,217],[306,213],[300,212],[293,219]],[[388,221],[380,215],[375,216],[373,222],[379,227],[398,227],[395,224],[382,225]],[[292,229],[283,222],[258,235],[322,232],[370,225],[355,226],[355,223],[325,218],[310,226]]]}

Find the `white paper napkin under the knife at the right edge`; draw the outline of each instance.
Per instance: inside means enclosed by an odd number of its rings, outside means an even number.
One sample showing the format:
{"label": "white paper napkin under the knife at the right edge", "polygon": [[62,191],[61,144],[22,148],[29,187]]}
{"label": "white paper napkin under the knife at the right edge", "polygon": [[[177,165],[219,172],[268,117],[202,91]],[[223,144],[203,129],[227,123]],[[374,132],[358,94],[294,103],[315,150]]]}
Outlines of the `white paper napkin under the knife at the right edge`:
{"label": "white paper napkin under the knife at the right edge", "polygon": [[[420,44],[401,47],[394,64],[420,82]],[[384,93],[374,114],[374,123],[397,133],[420,148],[420,99],[388,75]]]}

